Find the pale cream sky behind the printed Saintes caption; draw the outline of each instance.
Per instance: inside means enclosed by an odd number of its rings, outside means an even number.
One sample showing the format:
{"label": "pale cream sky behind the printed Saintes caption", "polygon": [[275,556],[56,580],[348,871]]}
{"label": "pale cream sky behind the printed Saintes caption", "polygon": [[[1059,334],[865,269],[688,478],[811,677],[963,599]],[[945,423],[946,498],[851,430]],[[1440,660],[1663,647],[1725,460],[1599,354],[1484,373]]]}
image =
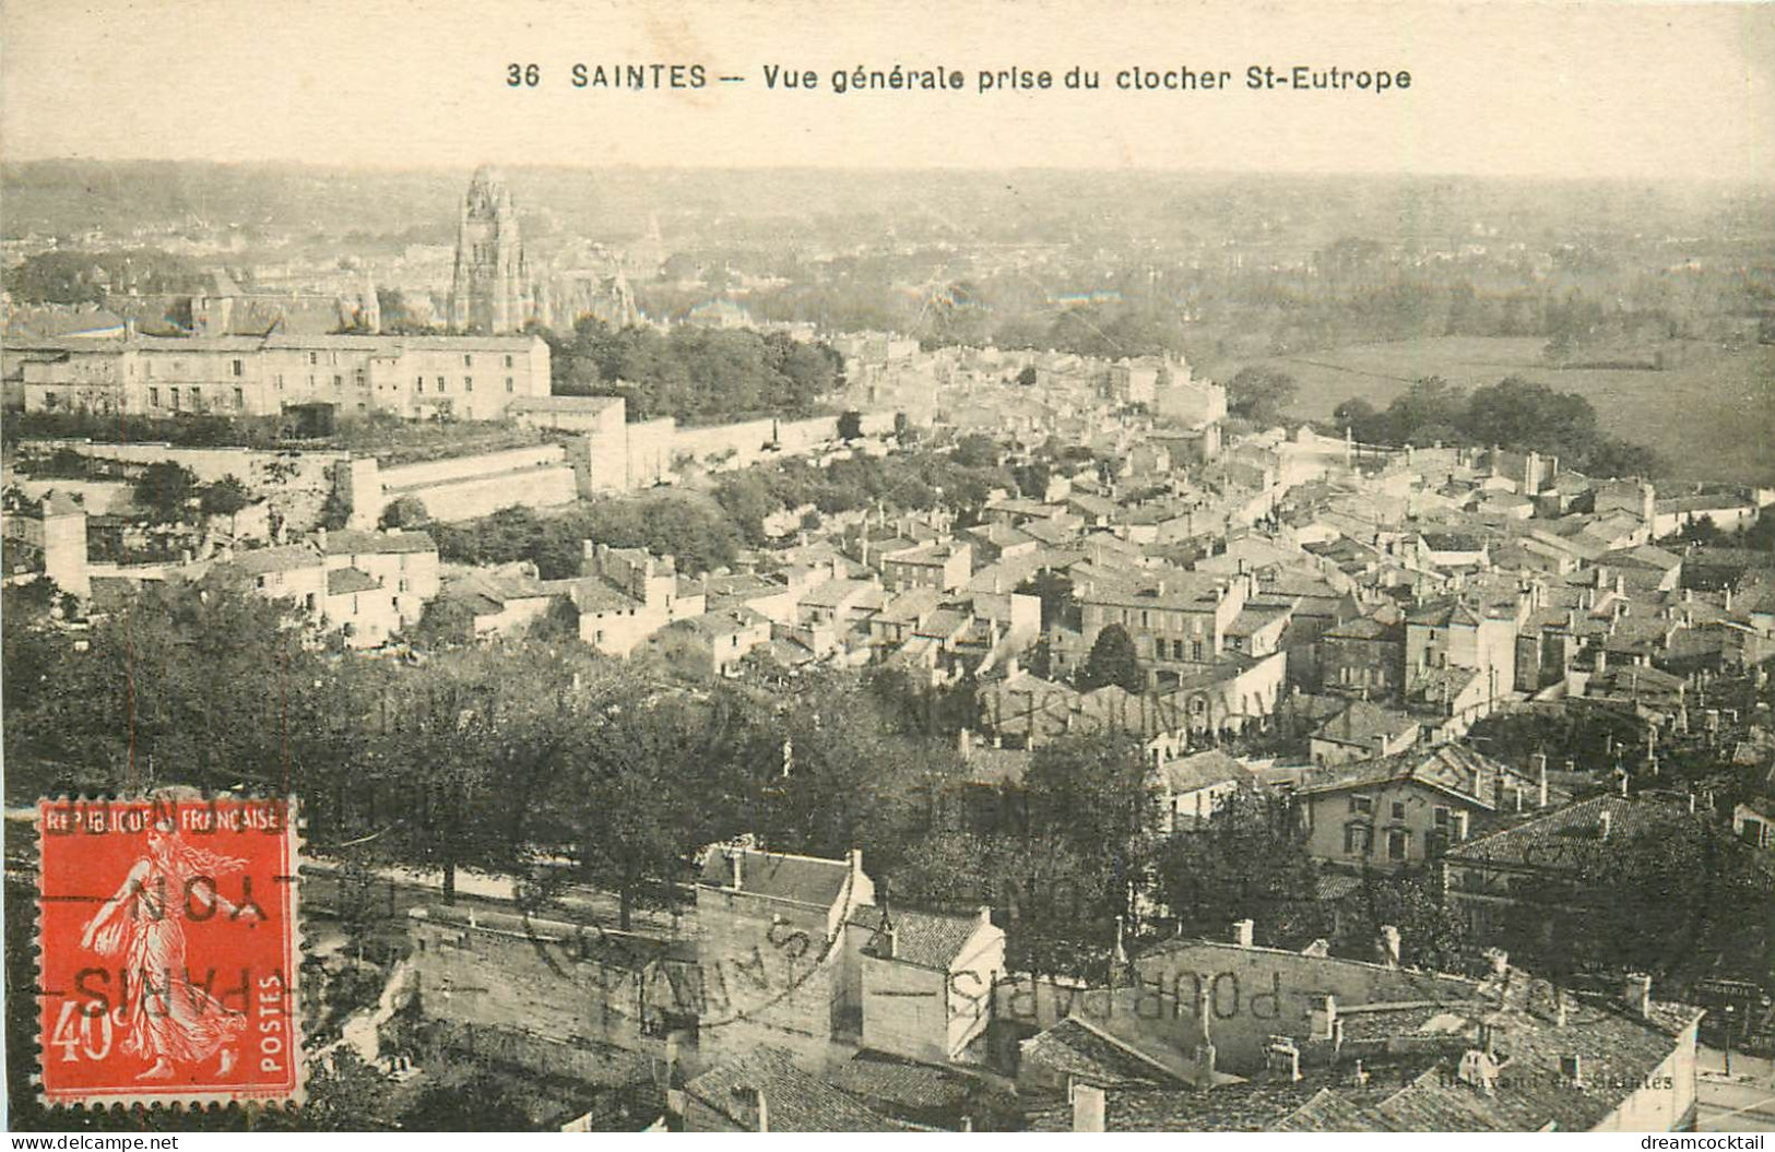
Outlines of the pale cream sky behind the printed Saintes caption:
{"label": "pale cream sky behind the printed Saintes caption", "polygon": [[[11,160],[1775,181],[1775,4],[0,2]],[[541,85],[506,87],[511,62]],[[575,62],[703,64],[710,85],[575,91]],[[767,64],[820,87],[767,91]],[[834,94],[857,64],[962,69],[967,89]],[[1076,64],[1102,89],[1058,87]],[[1408,69],[1411,89],[1251,92],[1251,64]],[[974,92],[980,69],[1014,66],[1056,89]],[[1115,87],[1179,66],[1235,87]]]}

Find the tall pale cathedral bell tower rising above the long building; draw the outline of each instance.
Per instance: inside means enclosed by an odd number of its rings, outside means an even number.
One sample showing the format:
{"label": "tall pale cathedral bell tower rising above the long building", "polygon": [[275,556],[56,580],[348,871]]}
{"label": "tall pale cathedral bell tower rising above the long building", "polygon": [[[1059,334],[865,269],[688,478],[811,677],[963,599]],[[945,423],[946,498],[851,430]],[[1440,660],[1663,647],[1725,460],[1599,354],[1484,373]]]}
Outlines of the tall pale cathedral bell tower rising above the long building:
{"label": "tall pale cathedral bell tower rising above the long building", "polygon": [[529,272],[518,213],[497,170],[476,169],[456,225],[456,273],[449,289],[453,332],[517,332],[529,320]]}

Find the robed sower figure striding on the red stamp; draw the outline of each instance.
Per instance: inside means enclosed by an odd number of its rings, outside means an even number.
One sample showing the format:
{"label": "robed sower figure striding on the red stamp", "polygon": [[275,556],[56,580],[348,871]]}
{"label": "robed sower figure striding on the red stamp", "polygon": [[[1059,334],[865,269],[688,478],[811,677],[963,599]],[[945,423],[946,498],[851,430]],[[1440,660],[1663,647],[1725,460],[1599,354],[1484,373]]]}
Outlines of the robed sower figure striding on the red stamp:
{"label": "robed sower figure striding on the red stamp", "polygon": [[190,982],[185,959],[186,909],[245,912],[225,900],[215,882],[245,868],[247,861],[185,843],[178,825],[160,822],[147,832],[147,856],[130,866],[117,893],[87,921],[80,946],[101,957],[124,955],[124,971],[137,985],[128,1003],[124,1051],[153,1060],[137,1079],[172,1079],[174,1065],[218,1056],[217,1076],[234,1067],[234,1038],[247,1017]]}

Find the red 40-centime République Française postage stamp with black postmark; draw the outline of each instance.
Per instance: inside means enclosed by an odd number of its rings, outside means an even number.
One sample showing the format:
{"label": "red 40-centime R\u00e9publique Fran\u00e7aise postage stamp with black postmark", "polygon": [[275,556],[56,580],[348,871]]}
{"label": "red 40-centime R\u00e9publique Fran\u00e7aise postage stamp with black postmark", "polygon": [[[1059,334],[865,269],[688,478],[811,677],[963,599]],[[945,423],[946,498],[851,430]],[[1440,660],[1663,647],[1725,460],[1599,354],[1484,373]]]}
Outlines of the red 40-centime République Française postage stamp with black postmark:
{"label": "red 40-centime R\u00e9publique Fran\u00e7aise postage stamp with black postmark", "polygon": [[289,801],[43,801],[37,843],[50,1104],[298,1099]]}

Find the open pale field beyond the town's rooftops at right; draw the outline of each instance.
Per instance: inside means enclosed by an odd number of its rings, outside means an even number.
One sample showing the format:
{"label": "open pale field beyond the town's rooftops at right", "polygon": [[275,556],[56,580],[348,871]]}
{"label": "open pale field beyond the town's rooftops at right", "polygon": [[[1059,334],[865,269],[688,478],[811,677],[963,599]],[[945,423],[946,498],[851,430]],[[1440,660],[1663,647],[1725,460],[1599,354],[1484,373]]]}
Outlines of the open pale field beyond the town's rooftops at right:
{"label": "open pale field beyond the town's rooftops at right", "polygon": [[1248,364],[1285,371],[1301,385],[1294,410],[1308,419],[1353,396],[1384,408],[1420,376],[1475,387],[1514,375],[1583,396],[1603,428],[1658,449],[1676,477],[1775,483],[1775,346],[1692,344],[1684,364],[1660,373],[1548,367],[1542,344],[1450,335],[1216,364],[1211,375],[1225,382]]}

